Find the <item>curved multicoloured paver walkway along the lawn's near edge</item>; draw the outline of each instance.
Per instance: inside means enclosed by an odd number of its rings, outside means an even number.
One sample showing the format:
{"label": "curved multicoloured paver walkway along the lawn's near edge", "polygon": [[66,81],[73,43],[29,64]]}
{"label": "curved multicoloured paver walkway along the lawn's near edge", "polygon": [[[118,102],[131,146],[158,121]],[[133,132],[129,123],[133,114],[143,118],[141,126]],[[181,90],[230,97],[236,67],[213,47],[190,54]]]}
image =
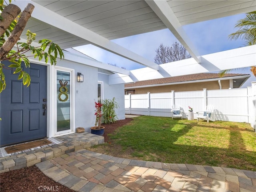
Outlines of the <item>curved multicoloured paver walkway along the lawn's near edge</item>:
{"label": "curved multicoloured paver walkway along the lawn's near edge", "polygon": [[256,192],[256,172],[116,158],[86,149],[37,163],[79,192]]}

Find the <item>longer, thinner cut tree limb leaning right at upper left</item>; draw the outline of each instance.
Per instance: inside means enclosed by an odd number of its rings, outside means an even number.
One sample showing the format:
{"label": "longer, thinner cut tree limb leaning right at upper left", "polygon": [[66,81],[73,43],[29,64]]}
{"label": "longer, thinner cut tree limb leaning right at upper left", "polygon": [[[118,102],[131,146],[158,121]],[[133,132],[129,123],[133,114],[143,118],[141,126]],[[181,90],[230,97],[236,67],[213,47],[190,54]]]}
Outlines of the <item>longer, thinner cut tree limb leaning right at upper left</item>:
{"label": "longer, thinner cut tree limb leaning right at upper left", "polygon": [[34,5],[28,4],[24,11],[22,12],[18,23],[14,27],[12,33],[9,38],[4,42],[3,46],[0,48],[0,61],[4,59],[4,57],[10,52],[13,46],[20,40],[20,35],[22,34],[28,19],[31,17],[31,14],[34,10]]}

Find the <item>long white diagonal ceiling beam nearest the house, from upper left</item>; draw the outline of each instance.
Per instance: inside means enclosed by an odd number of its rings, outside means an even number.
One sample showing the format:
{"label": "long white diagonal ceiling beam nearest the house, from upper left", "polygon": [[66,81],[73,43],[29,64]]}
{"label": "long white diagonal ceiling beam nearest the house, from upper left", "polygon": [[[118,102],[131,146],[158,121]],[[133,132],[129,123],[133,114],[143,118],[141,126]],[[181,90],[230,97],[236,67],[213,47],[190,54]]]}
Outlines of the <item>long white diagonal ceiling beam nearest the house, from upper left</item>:
{"label": "long white diagonal ceiling beam nearest the house, from upper left", "polygon": [[[28,4],[29,2],[30,1],[25,1],[25,0],[24,1],[15,1],[14,4],[16,4],[20,8],[22,8],[22,7],[25,7],[26,4]],[[34,17],[38,20],[41,20],[43,22],[46,22],[47,24],[52,25],[56,28],[64,30],[70,34],[74,34],[75,36],[78,36],[79,38],[87,40],[87,41],[91,42],[93,45],[103,48],[105,50],[108,50],[114,54],[117,54],[117,55],[127,58],[129,60],[132,60],[136,63],[142,64],[144,66],[148,66],[155,70],[159,69],[158,64],[156,64],[150,60],[147,60],[146,58],[144,58],[126,48],[123,48],[122,46],[120,46],[114,42],[111,42],[110,40],[92,32],[78,24],[75,24],[74,22],[42,7],[41,5],[36,4],[35,2],[33,4],[35,6],[35,9],[32,12],[32,17]],[[52,18],[54,18],[54,20]]]}

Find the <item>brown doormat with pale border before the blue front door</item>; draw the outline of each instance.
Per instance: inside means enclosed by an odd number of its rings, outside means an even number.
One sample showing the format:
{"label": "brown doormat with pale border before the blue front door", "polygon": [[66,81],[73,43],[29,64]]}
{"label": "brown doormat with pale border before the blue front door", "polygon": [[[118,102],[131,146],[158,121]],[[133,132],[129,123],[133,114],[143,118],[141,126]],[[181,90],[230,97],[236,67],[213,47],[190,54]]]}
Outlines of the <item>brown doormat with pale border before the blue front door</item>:
{"label": "brown doormat with pale border before the blue front door", "polygon": [[60,144],[60,143],[63,143],[63,141],[56,138],[48,138],[48,139],[42,139],[42,140],[7,146],[7,147],[1,148],[0,157],[24,153],[24,152],[28,152],[28,151],[32,151],[32,150],[40,149],[44,147],[49,147],[49,146]]}

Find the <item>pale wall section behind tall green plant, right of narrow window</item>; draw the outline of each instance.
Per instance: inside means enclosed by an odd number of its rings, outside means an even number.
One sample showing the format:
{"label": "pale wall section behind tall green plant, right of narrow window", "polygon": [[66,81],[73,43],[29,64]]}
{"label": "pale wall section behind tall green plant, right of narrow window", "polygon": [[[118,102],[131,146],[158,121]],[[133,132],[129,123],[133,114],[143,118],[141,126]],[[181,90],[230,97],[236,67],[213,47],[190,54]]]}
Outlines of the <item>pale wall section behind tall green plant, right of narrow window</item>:
{"label": "pale wall section behind tall green plant, right of narrow window", "polygon": [[98,80],[103,81],[103,99],[116,98],[120,108],[116,109],[116,114],[119,120],[125,119],[124,109],[124,84],[108,84],[109,75],[99,73]]}

